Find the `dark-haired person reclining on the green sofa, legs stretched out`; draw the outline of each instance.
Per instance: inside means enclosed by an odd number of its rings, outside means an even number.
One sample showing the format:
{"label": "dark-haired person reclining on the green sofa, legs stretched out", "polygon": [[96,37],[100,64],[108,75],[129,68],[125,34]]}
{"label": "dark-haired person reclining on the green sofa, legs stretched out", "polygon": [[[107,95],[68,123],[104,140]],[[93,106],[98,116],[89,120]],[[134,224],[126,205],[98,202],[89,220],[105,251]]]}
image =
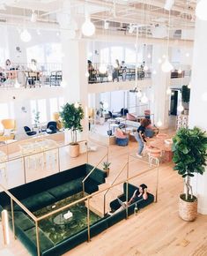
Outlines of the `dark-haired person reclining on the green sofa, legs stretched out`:
{"label": "dark-haired person reclining on the green sofa, legs stretched out", "polygon": [[121,212],[124,210],[127,206],[139,201],[139,200],[147,200],[148,199],[148,193],[147,193],[147,186],[145,184],[140,184],[138,186],[138,190],[136,190],[130,200],[128,202],[122,202],[122,200],[119,200],[119,203],[121,207],[119,207],[115,212],[108,212],[107,215],[115,215],[118,212]]}

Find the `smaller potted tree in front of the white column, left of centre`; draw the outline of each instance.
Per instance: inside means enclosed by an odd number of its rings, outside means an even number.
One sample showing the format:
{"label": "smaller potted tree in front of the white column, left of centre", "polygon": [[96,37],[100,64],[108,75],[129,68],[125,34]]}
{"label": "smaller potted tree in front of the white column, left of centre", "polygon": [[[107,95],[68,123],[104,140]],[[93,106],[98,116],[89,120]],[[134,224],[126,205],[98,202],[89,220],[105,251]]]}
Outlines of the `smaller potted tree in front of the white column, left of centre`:
{"label": "smaller potted tree in front of the white column, left of centre", "polygon": [[79,155],[79,144],[77,142],[77,132],[82,132],[83,127],[81,120],[84,118],[84,109],[75,104],[66,103],[62,107],[60,117],[63,120],[63,126],[65,129],[70,130],[71,142],[70,142],[70,156],[77,157]]}

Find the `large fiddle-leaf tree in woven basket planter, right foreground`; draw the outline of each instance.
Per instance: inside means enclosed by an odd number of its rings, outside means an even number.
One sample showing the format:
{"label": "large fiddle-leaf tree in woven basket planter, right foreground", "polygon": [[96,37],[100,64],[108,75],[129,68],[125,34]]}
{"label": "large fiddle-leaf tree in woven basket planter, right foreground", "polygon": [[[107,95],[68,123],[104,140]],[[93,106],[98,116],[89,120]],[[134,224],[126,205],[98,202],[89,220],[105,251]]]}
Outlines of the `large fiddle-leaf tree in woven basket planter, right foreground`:
{"label": "large fiddle-leaf tree in woven basket planter, right foreground", "polygon": [[185,192],[180,195],[179,215],[191,222],[197,215],[197,198],[193,194],[191,177],[203,175],[206,166],[207,136],[201,129],[181,128],[173,138],[174,169],[184,180]]}

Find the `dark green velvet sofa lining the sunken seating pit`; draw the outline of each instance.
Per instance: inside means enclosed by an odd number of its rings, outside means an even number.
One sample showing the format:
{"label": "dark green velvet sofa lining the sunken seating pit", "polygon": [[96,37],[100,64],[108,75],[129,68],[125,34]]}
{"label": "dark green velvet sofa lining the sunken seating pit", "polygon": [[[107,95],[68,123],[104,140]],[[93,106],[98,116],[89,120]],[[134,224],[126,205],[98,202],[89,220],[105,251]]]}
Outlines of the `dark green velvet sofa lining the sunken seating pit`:
{"label": "dark green velvet sofa lining the sunken seating pit", "polygon": [[[87,173],[92,169],[90,165],[82,165],[73,169],[63,171],[61,173],[52,175],[50,177],[45,177],[41,180],[34,181],[29,184],[20,185],[10,191],[22,201],[26,207],[30,209],[37,210],[38,208],[44,207],[46,204],[51,204],[57,200],[61,200],[70,194],[77,193],[82,191],[82,179]],[[73,172],[73,175],[71,174]],[[81,177],[81,178],[80,178]],[[85,185],[86,192],[94,192],[98,190],[98,185],[105,182],[106,174],[100,169],[94,170],[92,177],[89,183]],[[73,184],[70,184],[71,181],[74,181]],[[61,189],[59,186],[63,186],[63,194],[61,194]],[[68,190],[66,189],[68,187]],[[55,189],[56,188],[56,189]],[[135,186],[129,184],[129,196],[135,190]],[[123,195],[121,197],[124,200],[126,194],[126,184],[123,184]],[[46,194],[44,194],[46,193]],[[36,199],[35,199],[36,196]],[[42,197],[41,199],[39,197]],[[35,202],[32,203],[32,199]],[[47,203],[44,202],[46,199]],[[142,206],[152,203],[153,195],[149,194],[149,200],[146,200]],[[115,200],[111,202],[111,207],[116,206]],[[11,208],[10,200],[4,192],[0,193],[0,208],[7,208],[10,213],[10,224],[11,224]],[[129,207],[129,215],[133,213],[133,205]],[[100,219],[97,222],[92,223],[90,227],[90,236],[94,237],[103,230],[113,226],[116,222],[122,221],[126,218],[126,211],[122,210],[121,212],[109,216],[106,215],[104,218]],[[14,207],[14,219],[15,219],[15,231],[19,240],[26,246],[31,255],[37,255],[37,246],[36,246],[36,233],[35,233],[35,224],[33,220],[24,213],[19,207]],[[78,231],[78,233],[63,239],[60,243],[54,244],[53,241],[41,230],[40,240],[41,240],[41,256],[61,256],[63,253],[70,251],[77,245],[87,241],[88,233],[87,229]]]}

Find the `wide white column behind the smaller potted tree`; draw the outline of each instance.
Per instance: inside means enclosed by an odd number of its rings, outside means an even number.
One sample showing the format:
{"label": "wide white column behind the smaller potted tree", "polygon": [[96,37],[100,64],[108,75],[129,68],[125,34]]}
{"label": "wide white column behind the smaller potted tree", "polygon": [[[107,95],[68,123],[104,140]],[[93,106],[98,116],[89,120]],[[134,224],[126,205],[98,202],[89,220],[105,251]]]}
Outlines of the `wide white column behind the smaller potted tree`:
{"label": "wide white column behind the smaller potted tree", "polygon": [[[88,80],[85,77],[87,71],[87,47],[86,41],[71,39],[67,32],[61,33],[63,50],[63,86],[64,102],[81,103],[83,109],[88,106]],[[83,121],[84,132],[82,138],[87,137],[87,120]]]}

